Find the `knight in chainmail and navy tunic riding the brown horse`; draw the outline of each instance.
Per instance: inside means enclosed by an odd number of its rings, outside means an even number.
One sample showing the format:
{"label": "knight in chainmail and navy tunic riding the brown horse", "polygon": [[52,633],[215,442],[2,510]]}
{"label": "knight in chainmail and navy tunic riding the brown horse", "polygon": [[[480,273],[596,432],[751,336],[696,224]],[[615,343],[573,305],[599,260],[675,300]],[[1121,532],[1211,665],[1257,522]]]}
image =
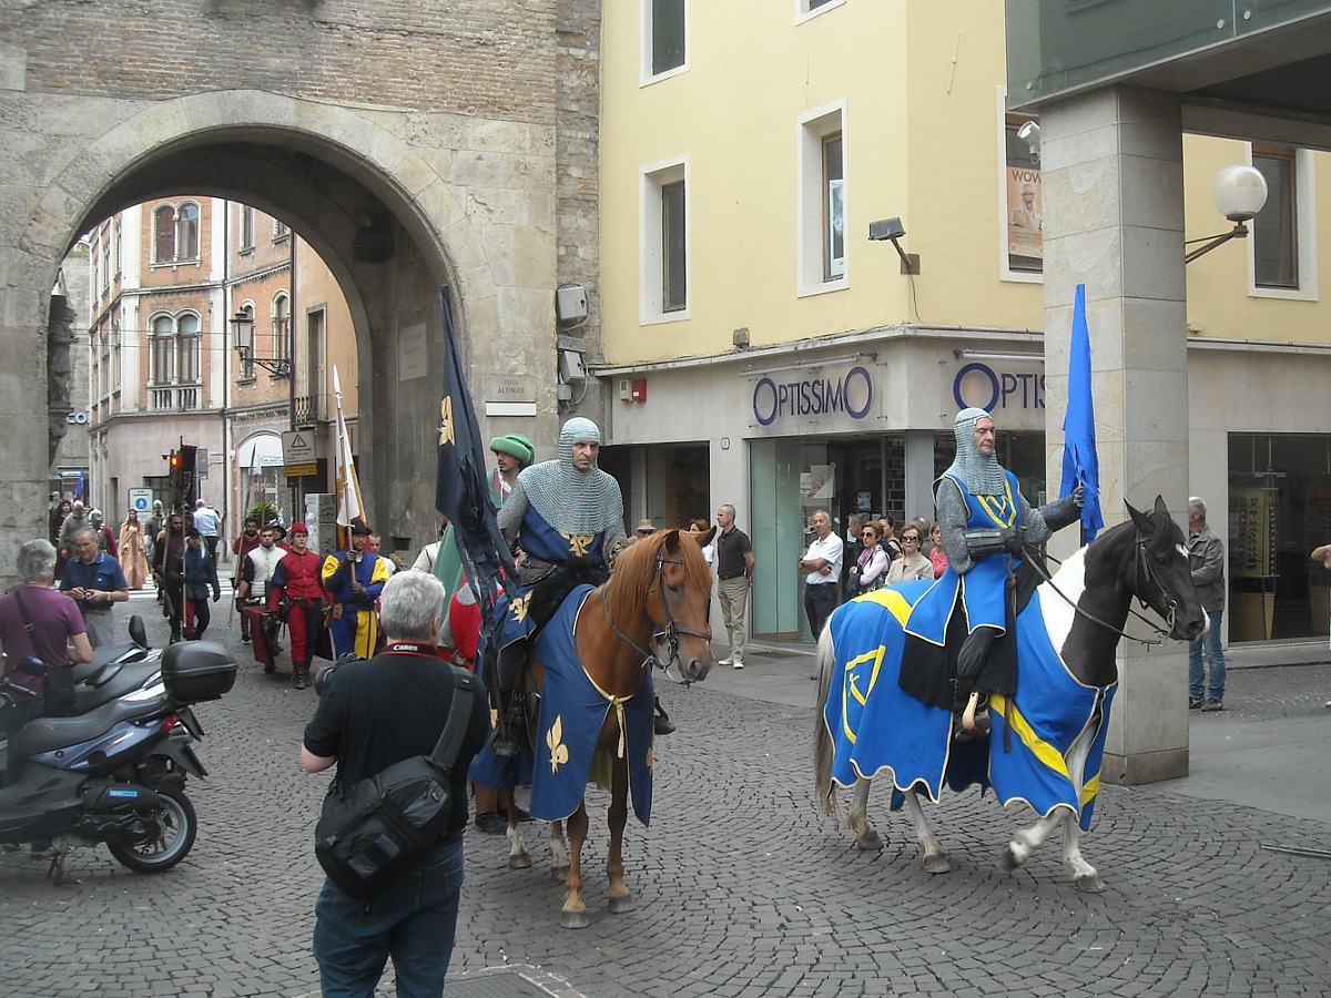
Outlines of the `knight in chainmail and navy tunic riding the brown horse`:
{"label": "knight in chainmail and navy tunic riding the brown horse", "polygon": [[[556,579],[572,571],[578,582],[606,582],[611,563],[630,542],[624,535],[624,498],[611,475],[596,467],[600,430],[582,416],[559,432],[559,456],[523,468],[503,507],[499,528],[510,547],[519,550],[518,582],[522,595],[500,597],[503,635],[487,649],[494,677],[498,720],[490,747],[503,758],[522,750],[523,703],[515,696],[530,659],[535,629],[558,608],[548,599]],[[550,605],[552,604],[552,605]],[[542,607],[547,609],[543,612]]]}

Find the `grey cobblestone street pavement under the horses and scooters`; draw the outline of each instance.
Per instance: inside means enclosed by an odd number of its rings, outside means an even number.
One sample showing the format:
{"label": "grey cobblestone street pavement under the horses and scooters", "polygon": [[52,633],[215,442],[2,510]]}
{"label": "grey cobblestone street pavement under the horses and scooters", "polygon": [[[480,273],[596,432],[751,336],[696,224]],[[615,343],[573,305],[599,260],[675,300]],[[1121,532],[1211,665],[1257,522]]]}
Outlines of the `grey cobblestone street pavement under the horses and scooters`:
{"label": "grey cobblestone street pavement under the horses and scooters", "polygon": [[[150,619],[150,637],[164,633],[161,617]],[[242,671],[228,697],[197,708],[210,777],[189,786],[201,824],[193,852],[144,877],[104,849],[77,849],[68,862],[77,880],[59,888],[45,864],[0,856],[5,995],[318,993],[310,836],[326,777],[297,761],[314,695],[291,691],[281,665],[262,675],[225,611],[209,637],[232,645]],[[1243,669],[1230,673],[1227,701],[1248,720],[1331,723],[1327,691],[1327,665]],[[1327,993],[1331,864],[1267,848],[1324,849],[1327,824],[1106,786],[1083,852],[1109,889],[1085,896],[1061,870],[1057,844],[1002,873],[1000,850],[1026,817],[970,793],[932,812],[954,864],[932,877],[886,793],[870,801],[889,840],[881,853],[858,852],[816,809],[812,705],[705,687],[663,699],[679,731],[658,744],[652,826],[628,828],[638,909],[604,906],[604,794],[591,797],[592,923],[582,931],[558,927],[563,889],[548,877],[543,825],[526,826],[536,840],[531,870],[508,870],[504,840],[473,833],[459,982],[520,966],[552,991],[587,998]],[[1326,790],[1324,770],[1308,776]]]}

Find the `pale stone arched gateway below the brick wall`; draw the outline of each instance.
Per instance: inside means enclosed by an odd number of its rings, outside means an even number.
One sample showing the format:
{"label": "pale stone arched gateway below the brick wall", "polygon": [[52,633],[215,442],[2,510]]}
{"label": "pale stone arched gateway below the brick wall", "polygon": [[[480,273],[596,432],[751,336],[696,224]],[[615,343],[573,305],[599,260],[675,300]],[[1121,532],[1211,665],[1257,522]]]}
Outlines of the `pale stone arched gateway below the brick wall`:
{"label": "pale stone arched gateway below the brick wall", "polygon": [[[0,89],[7,108],[0,148],[8,148],[11,161],[8,186],[0,188],[9,192],[0,193],[0,413],[7,427],[0,523],[11,538],[45,532],[44,339],[60,262],[91,225],[168,193],[250,204],[286,222],[330,266],[358,342],[362,490],[385,535],[423,542],[435,532],[441,285],[454,289],[478,410],[487,379],[516,375],[534,386],[535,419],[498,420],[483,431],[554,439],[559,198],[552,121],[365,110],[258,90],[83,101],[87,106],[73,108],[68,100]],[[391,245],[382,262],[354,249],[367,228]],[[560,278],[584,279],[576,273]],[[403,330],[413,330],[411,355]],[[12,575],[16,548],[0,548],[0,578]]]}

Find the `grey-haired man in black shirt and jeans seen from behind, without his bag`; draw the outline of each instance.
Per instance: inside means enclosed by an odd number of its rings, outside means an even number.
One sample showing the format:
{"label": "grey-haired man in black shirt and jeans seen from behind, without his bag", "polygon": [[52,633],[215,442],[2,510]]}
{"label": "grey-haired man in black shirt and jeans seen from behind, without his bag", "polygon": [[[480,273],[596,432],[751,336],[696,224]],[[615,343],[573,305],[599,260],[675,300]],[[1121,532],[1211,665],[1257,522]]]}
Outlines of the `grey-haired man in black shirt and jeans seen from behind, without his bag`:
{"label": "grey-haired man in black shirt and jeans seen from behind, without his bag", "polygon": [[[318,773],[337,762],[337,785],[413,756],[430,754],[455,695],[451,667],[435,655],[443,585],[425,572],[398,572],[383,585],[383,652],[327,676],[305,728],[301,765]],[[438,845],[389,881],[369,902],[325,881],[314,905],[314,957],[325,994],[370,995],[393,957],[398,994],[442,994],[453,955],[467,828],[467,766],[490,727],[483,692],[473,697],[462,748],[450,769],[453,816]]]}

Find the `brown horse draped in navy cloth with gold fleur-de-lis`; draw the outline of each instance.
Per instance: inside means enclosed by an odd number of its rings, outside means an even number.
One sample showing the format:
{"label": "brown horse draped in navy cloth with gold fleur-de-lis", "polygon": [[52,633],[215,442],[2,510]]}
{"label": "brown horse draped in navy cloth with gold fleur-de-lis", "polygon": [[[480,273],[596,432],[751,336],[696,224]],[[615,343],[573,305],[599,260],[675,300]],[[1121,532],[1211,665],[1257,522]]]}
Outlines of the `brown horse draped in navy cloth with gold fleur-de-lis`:
{"label": "brown horse draped in navy cloth with gold fleur-de-lis", "polygon": [[[708,624],[712,574],[701,552],[713,534],[715,528],[696,535],[669,530],[643,538],[619,555],[608,583],[582,597],[576,592],[570,596],[570,600],[580,599],[572,619],[572,647],[578,661],[555,660],[559,641],[551,635],[558,628],[554,621],[536,641],[531,688],[548,692],[548,669],[580,669],[604,697],[604,716],[594,743],[584,737],[580,740],[582,749],[570,748],[575,743],[571,731],[575,725],[586,724],[586,719],[570,719],[567,725],[563,724],[562,715],[556,715],[548,697],[542,696],[540,717],[532,731],[532,744],[538,747],[532,773],[532,810],[536,812],[536,800],[544,793],[542,782],[554,780],[552,773],[560,768],[568,768],[571,773],[586,772],[588,778],[610,790],[610,854],[606,873],[610,878],[610,910],[614,913],[634,909],[634,896],[624,885],[624,824],[628,817],[632,741],[638,737],[640,743],[643,737],[635,736],[635,731],[646,731],[646,737],[651,739],[652,664],[675,681],[684,683],[701,681],[716,664]],[[675,679],[676,673],[679,679]],[[646,703],[646,729],[640,724],[640,713],[636,728],[627,720],[630,701],[635,701],[639,712]],[[595,716],[590,723],[595,724]],[[642,744],[639,748],[643,748]],[[647,786],[643,788],[639,782],[632,789],[635,806],[639,794],[646,792],[644,800],[650,810],[650,743],[646,748]],[[540,754],[542,749],[544,754]],[[584,788],[586,781],[578,784],[578,793]],[[531,866],[531,857],[516,821],[516,810],[508,808],[508,865],[522,869]],[[550,830],[552,873],[556,878],[564,878],[567,892],[559,923],[566,929],[584,929],[591,925],[582,893],[582,846],[587,838],[586,797],[578,800],[571,813],[560,808],[550,817],[555,814],[566,814],[568,821],[567,844],[560,821],[552,821]],[[646,821],[643,810],[639,810],[639,817]]]}

